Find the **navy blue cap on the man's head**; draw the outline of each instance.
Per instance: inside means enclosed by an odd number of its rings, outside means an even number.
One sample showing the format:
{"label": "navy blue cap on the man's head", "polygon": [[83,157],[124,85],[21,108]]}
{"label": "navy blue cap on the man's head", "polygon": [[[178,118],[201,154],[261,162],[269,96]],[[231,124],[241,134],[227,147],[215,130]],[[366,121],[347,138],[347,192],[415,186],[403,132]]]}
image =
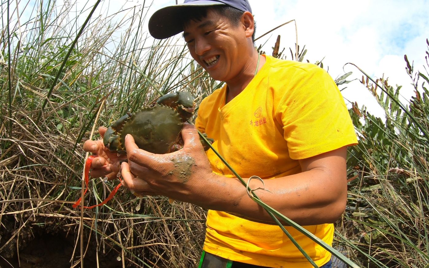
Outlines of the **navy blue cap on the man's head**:
{"label": "navy blue cap on the man's head", "polygon": [[242,12],[252,13],[248,0],[185,0],[183,4],[166,6],[157,10],[149,19],[149,33],[156,39],[164,39],[183,31],[178,22],[183,9],[195,6],[232,6]]}

